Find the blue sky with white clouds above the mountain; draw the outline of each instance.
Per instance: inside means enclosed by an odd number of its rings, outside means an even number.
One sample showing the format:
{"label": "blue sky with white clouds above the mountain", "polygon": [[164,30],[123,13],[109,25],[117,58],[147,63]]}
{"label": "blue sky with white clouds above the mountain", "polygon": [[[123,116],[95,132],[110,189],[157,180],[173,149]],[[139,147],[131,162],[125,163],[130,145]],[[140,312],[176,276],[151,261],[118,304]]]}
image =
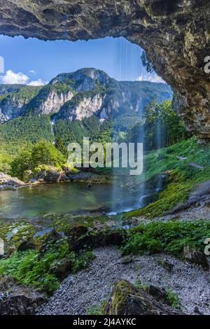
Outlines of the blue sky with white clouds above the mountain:
{"label": "blue sky with white clouds above the mountain", "polygon": [[117,80],[152,80],[141,64],[141,48],[125,38],[90,41],[40,41],[36,38],[0,36],[4,72],[0,83],[42,85],[57,74],[82,67],[102,69]]}

